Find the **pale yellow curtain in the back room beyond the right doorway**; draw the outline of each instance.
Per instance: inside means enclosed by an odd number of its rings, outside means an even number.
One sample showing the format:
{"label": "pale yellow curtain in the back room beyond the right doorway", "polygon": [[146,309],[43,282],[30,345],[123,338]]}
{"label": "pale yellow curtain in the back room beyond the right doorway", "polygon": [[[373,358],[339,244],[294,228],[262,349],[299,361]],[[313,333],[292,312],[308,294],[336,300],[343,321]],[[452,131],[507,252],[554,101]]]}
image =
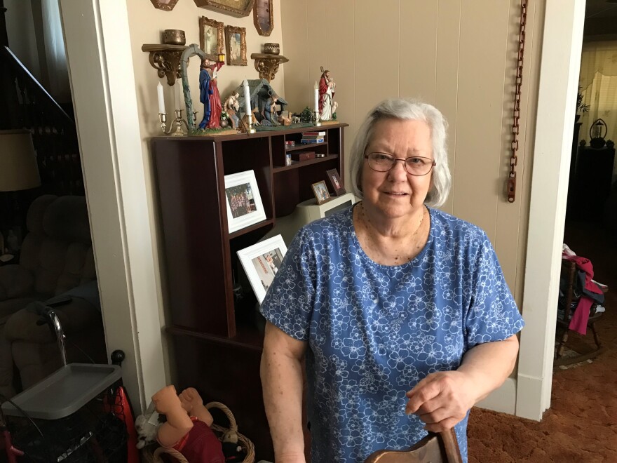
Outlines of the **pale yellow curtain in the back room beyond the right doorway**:
{"label": "pale yellow curtain in the back room beyond the right doorway", "polygon": [[590,127],[596,119],[606,122],[606,140],[617,143],[617,41],[583,43],[581,74],[578,81],[583,103],[589,112],[579,122],[578,140],[590,140]]}

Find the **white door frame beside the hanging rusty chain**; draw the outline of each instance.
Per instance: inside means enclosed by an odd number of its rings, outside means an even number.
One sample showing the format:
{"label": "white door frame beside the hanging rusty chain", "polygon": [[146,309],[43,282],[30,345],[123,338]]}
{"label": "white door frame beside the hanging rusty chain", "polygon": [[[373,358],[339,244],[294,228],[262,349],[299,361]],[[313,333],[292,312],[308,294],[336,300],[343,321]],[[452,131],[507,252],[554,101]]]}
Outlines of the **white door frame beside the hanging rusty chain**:
{"label": "white door frame beside the hanging rusty chain", "polygon": [[584,19],[585,0],[546,1],[517,373],[516,415],[531,420],[550,407]]}

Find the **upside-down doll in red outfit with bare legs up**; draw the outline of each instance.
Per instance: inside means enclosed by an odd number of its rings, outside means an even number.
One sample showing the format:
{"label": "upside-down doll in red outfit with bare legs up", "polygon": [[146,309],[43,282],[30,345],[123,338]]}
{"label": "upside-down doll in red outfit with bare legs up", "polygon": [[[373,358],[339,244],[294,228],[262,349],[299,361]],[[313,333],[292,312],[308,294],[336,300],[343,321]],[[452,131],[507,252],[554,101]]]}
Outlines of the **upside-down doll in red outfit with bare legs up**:
{"label": "upside-down doll in red outfit with bare legs up", "polygon": [[222,445],[210,425],[212,415],[193,387],[179,395],[167,386],[152,396],[156,411],[167,417],[158,427],[156,438],[166,448],[174,448],[191,463],[225,463]]}

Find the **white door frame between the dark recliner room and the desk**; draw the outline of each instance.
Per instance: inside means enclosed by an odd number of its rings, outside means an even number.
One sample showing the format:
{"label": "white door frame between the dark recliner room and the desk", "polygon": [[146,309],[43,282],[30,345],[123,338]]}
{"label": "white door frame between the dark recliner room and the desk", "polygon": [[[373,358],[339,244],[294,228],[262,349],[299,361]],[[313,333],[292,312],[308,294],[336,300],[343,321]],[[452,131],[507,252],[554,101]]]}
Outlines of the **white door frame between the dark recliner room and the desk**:
{"label": "white door frame between the dark recliner room and the desk", "polygon": [[60,8],[105,339],[126,353],[123,382],[139,413],[165,369],[126,1]]}

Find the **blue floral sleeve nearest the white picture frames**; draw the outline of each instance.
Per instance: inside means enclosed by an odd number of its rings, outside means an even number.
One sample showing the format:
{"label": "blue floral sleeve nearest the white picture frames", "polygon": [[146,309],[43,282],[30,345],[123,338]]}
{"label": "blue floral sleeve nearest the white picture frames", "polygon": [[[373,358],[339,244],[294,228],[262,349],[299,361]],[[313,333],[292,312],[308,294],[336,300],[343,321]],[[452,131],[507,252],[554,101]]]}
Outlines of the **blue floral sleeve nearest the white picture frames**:
{"label": "blue floral sleeve nearest the white picture frames", "polygon": [[260,311],[287,335],[308,340],[316,288],[316,259],[307,229],[290,244],[279,271],[266,293]]}

